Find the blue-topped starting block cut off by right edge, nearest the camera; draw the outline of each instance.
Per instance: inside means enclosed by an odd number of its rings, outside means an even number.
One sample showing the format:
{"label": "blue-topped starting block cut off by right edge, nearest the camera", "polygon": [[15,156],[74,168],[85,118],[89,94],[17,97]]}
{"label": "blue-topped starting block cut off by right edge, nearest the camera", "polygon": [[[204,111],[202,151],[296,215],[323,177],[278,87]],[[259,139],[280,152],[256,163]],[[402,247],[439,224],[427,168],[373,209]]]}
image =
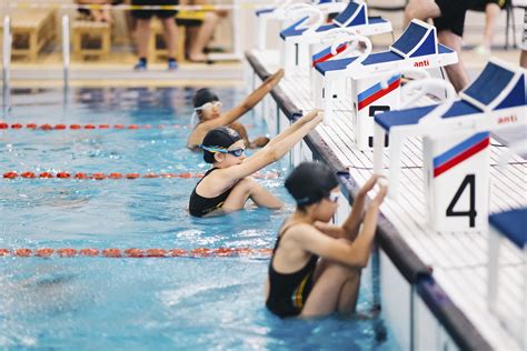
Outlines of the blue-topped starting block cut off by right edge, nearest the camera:
{"label": "blue-topped starting block cut off by right edge, nearest the camera", "polygon": [[[497,314],[507,325],[513,334],[520,341],[523,349],[527,348],[527,208],[515,209],[489,217],[489,240],[488,240],[488,280],[487,280],[487,302],[489,310]],[[517,315],[504,314],[497,304],[499,282],[499,251],[501,238],[509,239],[524,257],[524,295],[523,311]]]}

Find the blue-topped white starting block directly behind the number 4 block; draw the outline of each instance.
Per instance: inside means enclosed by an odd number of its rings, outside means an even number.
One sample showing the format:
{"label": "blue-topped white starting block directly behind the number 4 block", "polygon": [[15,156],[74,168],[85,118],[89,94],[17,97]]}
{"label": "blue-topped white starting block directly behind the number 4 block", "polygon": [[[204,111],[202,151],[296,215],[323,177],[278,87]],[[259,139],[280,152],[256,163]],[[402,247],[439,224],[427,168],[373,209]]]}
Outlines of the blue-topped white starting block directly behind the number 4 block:
{"label": "blue-topped white starting block directly behind the number 4 block", "polygon": [[[370,53],[367,57],[347,57],[315,64],[316,107],[324,108],[325,123],[332,119],[334,101],[345,100],[348,93],[335,89],[336,81],[351,79],[351,94],[357,121],[361,123],[371,119],[378,110],[398,108],[400,80],[389,76],[390,72],[412,68],[439,68],[458,61],[457,53],[437,42],[436,28],[419,20],[412,20],[399,39],[389,50]],[[387,77],[388,76],[388,77]],[[379,89],[379,83],[391,80],[388,89]],[[384,101],[379,101],[385,98]],[[382,109],[374,109],[379,104]],[[359,110],[359,106],[361,109]],[[366,109],[366,107],[368,107]],[[372,137],[372,129],[365,137]],[[361,143],[360,149],[367,146]]]}

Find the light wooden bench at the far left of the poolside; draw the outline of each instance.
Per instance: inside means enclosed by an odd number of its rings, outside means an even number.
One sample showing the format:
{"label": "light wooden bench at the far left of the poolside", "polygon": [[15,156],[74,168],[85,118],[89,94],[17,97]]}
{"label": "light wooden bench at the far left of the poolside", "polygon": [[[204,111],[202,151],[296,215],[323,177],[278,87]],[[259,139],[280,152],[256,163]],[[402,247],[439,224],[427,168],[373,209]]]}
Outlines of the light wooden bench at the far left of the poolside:
{"label": "light wooden bench at the far left of the poolside", "polygon": [[[10,14],[13,58],[36,61],[40,50],[57,37],[53,10],[16,10]],[[0,40],[3,38],[3,21],[0,23]]]}

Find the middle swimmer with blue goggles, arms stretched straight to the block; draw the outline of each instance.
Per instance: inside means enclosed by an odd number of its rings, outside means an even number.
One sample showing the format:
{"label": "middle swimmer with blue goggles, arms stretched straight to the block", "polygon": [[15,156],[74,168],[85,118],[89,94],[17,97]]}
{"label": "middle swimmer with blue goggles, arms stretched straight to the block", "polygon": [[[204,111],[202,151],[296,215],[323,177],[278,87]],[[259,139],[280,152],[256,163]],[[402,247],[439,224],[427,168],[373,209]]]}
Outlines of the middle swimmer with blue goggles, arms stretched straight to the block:
{"label": "middle swimmer with blue goggles, arms stretched straight to the block", "polygon": [[279,160],[322,120],[314,110],[269,143],[245,157],[245,142],[232,129],[216,128],[203,138],[203,160],[213,168],[198,182],[190,195],[189,212],[195,217],[218,215],[241,210],[247,200],[269,209],[280,209],[282,203],[250,176]]}

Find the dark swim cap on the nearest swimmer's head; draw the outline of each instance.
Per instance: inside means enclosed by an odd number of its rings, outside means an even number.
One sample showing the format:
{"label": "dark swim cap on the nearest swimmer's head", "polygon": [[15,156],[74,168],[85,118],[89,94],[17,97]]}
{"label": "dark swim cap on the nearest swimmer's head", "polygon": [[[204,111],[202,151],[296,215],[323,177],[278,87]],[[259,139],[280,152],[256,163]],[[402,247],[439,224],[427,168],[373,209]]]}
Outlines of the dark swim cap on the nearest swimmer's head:
{"label": "dark swim cap on the nearest swimmer's head", "polygon": [[308,205],[327,198],[338,187],[337,177],[324,163],[300,163],[286,179],[286,189],[297,205]]}

